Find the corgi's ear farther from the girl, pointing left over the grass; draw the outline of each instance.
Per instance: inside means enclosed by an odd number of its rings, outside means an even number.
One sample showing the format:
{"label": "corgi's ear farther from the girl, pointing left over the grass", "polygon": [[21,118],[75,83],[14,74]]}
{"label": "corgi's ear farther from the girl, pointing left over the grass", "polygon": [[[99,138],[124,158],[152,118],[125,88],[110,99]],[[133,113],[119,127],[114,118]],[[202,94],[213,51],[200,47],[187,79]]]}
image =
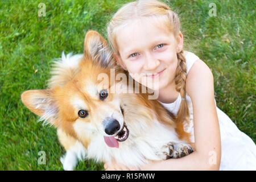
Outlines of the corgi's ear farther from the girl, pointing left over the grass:
{"label": "corgi's ear farther from the girl, pointing left over the grass", "polygon": [[21,100],[32,113],[39,115],[39,121],[55,124],[57,107],[52,98],[52,90],[27,90],[22,93]]}

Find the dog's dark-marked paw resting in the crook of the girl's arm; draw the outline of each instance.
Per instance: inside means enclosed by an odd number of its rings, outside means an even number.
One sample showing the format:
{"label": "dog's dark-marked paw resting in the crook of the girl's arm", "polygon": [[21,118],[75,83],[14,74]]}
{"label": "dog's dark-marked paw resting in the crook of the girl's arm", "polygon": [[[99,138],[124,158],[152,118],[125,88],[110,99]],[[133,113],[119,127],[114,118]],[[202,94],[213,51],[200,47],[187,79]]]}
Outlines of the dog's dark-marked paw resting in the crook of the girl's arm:
{"label": "dog's dark-marked paw resting in the crook of the girl's arm", "polygon": [[172,158],[182,158],[193,152],[193,148],[186,143],[177,143],[174,145],[174,152]]}

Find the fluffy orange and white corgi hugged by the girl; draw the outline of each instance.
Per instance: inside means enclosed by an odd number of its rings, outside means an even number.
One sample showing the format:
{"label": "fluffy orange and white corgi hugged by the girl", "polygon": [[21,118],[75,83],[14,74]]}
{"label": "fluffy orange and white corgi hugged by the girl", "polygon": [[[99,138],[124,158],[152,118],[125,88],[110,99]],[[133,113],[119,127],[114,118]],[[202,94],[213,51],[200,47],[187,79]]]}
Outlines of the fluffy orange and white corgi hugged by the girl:
{"label": "fluffy orange and white corgi hugged by the girl", "polygon": [[[63,168],[72,170],[85,159],[139,168],[190,154],[183,123],[176,123],[157,100],[148,100],[148,93],[110,92],[114,84],[129,88],[127,82],[110,81],[113,69],[128,75],[106,40],[88,31],[82,55],[63,53],[55,61],[47,89],[22,93],[23,104],[39,115],[39,121],[56,127],[66,151],[61,157]],[[102,74],[109,79],[103,84],[98,79]]]}

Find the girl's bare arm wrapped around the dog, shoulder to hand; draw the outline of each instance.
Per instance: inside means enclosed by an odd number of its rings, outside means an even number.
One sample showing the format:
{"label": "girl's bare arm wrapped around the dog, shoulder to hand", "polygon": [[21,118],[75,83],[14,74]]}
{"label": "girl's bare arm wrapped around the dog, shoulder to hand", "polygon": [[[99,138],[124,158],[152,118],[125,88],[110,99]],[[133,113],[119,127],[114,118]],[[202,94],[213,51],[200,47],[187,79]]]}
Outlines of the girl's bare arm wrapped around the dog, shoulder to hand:
{"label": "girl's bare arm wrapped around the dog, shoulder to hand", "polygon": [[[142,170],[218,170],[221,159],[220,127],[214,102],[213,75],[201,60],[193,64],[186,81],[186,90],[193,104],[195,151],[180,159],[146,164]],[[121,165],[108,170],[125,169]]]}

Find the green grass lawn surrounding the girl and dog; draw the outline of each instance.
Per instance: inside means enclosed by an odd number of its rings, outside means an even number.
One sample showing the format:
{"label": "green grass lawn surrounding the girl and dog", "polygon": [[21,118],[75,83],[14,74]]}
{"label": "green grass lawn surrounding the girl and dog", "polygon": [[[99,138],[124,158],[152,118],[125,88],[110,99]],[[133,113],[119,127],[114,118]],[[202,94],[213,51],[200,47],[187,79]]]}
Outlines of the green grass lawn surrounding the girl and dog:
{"label": "green grass lawn surrounding the girl and dog", "polygon": [[[20,94],[46,88],[52,59],[62,51],[81,53],[85,32],[105,34],[110,15],[127,1],[46,2],[46,17],[39,18],[40,2],[0,2],[1,170],[62,169],[55,129],[37,123]],[[255,141],[255,1],[170,2],[187,49],[212,69],[218,107]],[[210,2],[217,17],[208,15]],[[39,151],[46,152],[46,165],[38,164]],[[103,168],[89,161],[76,169]]]}

